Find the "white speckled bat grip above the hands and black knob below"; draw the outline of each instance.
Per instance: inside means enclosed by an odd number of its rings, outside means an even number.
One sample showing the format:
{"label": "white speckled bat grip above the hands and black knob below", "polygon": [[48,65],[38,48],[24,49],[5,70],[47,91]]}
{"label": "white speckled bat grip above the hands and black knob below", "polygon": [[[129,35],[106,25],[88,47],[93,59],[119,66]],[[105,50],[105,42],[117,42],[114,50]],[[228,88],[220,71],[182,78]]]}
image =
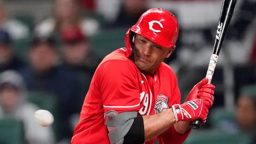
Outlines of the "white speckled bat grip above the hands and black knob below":
{"label": "white speckled bat grip above the hands and black knob below", "polygon": [[[211,59],[210,59],[210,63],[209,63],[209,66],[208,66],[207,74],[206,74],[206,78],[209,79],[208,83],[211,83],[213,72],[214,72],[217,60],[218,60],[218,55],[212,54]],[[201,120],[195,120],[195,121],[191,122],[189,124],[189,126],[192,129],[199,129],[201,127],[201,123],[202,123]]]}

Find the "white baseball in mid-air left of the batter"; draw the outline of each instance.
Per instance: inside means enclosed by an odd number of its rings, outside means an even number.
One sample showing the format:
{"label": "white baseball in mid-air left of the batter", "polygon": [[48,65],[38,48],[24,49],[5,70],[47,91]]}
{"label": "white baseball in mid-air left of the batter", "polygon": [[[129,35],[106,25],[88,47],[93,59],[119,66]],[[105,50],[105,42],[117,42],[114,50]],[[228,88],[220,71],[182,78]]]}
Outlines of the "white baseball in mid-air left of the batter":
{"label": "white baseball in mid-air left of the batter", "polygon": [[34,119],[38,124],[40,124],[43,127],[50,126],[54,121],[52,113],[50,113],[47,110],[36,111],[34,114]]}

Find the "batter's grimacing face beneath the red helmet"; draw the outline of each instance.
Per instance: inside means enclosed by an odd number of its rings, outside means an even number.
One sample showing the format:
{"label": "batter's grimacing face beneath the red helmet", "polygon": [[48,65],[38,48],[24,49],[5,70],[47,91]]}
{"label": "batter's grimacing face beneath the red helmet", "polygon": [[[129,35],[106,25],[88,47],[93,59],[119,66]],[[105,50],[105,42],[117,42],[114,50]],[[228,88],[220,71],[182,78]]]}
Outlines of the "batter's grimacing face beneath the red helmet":
{"label": "batter's grimacing face beneath the red helmet", "polygon": [[175,46],[170,48],[162,47],[138,34],[134,39],[134,47],[133,60],[135,65],[149,74],[154,74],[164,58],[168,58],[175,49]]}

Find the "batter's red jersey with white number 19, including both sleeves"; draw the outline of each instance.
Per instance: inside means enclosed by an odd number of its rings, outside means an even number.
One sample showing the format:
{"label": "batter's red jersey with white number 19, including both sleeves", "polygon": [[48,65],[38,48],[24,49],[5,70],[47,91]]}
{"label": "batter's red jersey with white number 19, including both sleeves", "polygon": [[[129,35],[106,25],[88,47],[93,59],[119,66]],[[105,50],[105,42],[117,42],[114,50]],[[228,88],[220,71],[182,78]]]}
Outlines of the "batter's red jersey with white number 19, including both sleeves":
{"label": "batter's red jersey with white number 19, including both sleeves", "polygon": [[[180,91],[173,70],[161,63],[154,76],[139,71],[125,50],[118,49],[99,64],[85,97],[72,144],[110,144],[104,113],[137,111],[138,116],[154,115],[180,104]],[[172,126],[157,138],[160,143],[182,143],[188,136]],[[155,138],[156,139],[156,138]],[[155,139],[146,142],[153,144]]]}

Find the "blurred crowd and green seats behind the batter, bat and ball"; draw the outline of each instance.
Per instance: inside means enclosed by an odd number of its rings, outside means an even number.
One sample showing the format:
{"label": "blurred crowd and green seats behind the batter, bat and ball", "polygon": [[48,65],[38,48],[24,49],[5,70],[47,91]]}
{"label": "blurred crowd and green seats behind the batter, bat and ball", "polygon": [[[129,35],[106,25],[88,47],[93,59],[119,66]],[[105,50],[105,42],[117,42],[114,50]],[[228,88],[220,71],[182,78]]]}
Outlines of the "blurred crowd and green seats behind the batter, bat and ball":
{"label": "blurred crowd and green seats behind the batter, bat and ball", "polygon": [[[149,8],[179,21],[165,62],[185,101],[203,79],[222,0],[0,0],[0,143],[68,144],[100,61],[124,47],[126,31]],[[213,75],[215,100],[185,144],[256,143],[256,0],[238,1]],[[51,127],[33,120],[53,113]],[[157,143],[157,142],[156,142]]]}

